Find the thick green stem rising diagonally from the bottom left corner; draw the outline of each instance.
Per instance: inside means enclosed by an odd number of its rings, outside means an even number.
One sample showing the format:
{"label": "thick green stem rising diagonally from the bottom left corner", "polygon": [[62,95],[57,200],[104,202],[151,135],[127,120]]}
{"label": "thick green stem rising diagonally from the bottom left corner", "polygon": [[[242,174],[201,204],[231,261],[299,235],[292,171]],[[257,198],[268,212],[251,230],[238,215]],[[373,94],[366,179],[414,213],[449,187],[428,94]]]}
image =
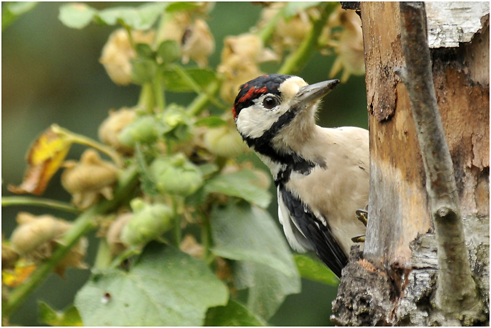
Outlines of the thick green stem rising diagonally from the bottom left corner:
{"label": "thick green stem rising diagonally from the bottom left corner", "polygon": [[97,227],[95,218],[98,215],[108,212],[127,199],[128,194],[136,187],[138,182],[138,171],[136,167],[130,170],[131,172],[120,181],[120,185],[114,193],[114,198],[110,201],[102,201],[85,210],[74,221],[73,227],[65,233],[60,245],[55,249],[52,256],[39,265],[23,284],[10,293],[8,300],[2,304],[2,318],[12,315],[27,299],[30,293],[48,277],[79,239]]}

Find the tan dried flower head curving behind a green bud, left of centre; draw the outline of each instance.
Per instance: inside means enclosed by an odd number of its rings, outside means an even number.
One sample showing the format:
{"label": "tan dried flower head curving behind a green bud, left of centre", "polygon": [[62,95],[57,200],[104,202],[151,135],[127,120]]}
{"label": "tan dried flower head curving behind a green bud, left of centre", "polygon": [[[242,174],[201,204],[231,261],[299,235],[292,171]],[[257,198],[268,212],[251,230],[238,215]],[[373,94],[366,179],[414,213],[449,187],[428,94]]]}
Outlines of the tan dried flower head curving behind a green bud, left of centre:
{"label": "tan dried flower head curving behind a green bud, left of centre", "polygon": [[135,110],[126,107],[117,111],[109,111],[109,117],[102,122],[101,126],[99,126],[99,139],[122,154],[133,154],[133,147],[121,144],[118,135],[123,128],[135,120],[135,117]]}

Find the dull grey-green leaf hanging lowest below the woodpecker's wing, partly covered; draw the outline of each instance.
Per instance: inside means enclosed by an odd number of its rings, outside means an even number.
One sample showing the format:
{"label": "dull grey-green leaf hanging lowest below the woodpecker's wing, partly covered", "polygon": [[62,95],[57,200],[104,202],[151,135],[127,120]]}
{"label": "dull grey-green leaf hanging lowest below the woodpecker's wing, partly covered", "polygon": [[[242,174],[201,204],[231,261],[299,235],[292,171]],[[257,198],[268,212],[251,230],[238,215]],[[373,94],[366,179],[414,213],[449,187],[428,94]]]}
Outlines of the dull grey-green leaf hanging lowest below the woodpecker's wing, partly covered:
{"label": "dull grey-green leaf hanging lowest below the woodpecker's wing, partly covered", "polygon": [[238,261],[234,278],[239,289],[249,288],[247,308],[266,320],[278,310],[285,297],[300,293],[300,277],[287,277],[260,263]]}

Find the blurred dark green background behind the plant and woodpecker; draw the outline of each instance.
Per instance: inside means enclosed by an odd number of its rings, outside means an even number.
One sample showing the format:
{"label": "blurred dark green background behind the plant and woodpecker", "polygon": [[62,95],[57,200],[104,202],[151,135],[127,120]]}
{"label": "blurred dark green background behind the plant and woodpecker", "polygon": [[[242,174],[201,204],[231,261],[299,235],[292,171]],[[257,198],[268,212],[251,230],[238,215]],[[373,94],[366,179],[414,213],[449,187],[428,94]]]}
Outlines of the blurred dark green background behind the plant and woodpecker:
{"label": "blurred dark green background behind the plant and woodpecker", "polygon": [[[98,9],[124,4],[96,2],[89,5]],[[25,155],[30,143],[52,123],[73,132],[97,139],[100,123],[109,109],[136,104],[139,87],[115,85],[99,63],[102,47],[113,26],[89,25],[82,30],[70,29],[57,19],[60,3],[42,2],[21,16],[2,32],[1,83],[1,147],[2,196],[11,195],[8,184],[18,185],[26,169]],[[220,61],[223,38],[239,35],[259,20],[261,6],[250,2],[217,2],[210,13],[211,31],[216,50],[210,66]],[[298,74],[308,83],[329,79],[334,56],[316,53]],[[272,64],[262,66],[274,73]],[[364,76],[351,76],[329,94],[319,111],[320,126],[360,126],[367,128]],[[194,94],[168,94],[167,101],[187,105]],[[78,159],[85,147],[74,145],[68,159]],[[260,162],[260,161],[255,161]],[[265,167],[261,167],[265,169]],[[43,197],[70,202],[70,195],[61,187],[58,172]],[[272,189],[275,195],[274,188]],[[16,226],[19,211],[35,215],[45,214],[37,207],[2,208],[2,235],[8,238]],[[270,205],[277,218],[277,203]],[[66,212],[51,211],[55,216],[74,219]],[[278,223],[279,225],[279,223]],[[92,264],[97,250],[94,233],[89,239],[85,262]],[[70,268],[65,278],[51,275],[12,316],[10,323],[38,326],[36,301],[42,300],[55,309],[73,302],[75,293],[89,278],[89,270]],[[329,326],[331,301],[336,287],[302,279],[302,292],[290,295],[269,321],[275,326]]]}

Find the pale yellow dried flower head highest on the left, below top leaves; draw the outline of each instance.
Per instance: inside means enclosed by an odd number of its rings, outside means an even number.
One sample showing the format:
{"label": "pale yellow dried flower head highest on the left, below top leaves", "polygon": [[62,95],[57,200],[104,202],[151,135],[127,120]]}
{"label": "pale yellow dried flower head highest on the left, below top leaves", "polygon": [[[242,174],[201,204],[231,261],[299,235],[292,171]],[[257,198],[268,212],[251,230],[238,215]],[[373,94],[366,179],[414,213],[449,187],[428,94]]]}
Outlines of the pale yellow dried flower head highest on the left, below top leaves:
{"label": "pale yellow dried flower head highest on the left, below top leaves", "polygon": [[[155,31],[132,31],[131,35],[135,43],[150,45],[155,39]],[[109,35],[99,61],[114,83],[128,85],[132,82],[130,59],[134,58],[136,58],[136,51],[130,43],[128,32],[120,28]]]}

